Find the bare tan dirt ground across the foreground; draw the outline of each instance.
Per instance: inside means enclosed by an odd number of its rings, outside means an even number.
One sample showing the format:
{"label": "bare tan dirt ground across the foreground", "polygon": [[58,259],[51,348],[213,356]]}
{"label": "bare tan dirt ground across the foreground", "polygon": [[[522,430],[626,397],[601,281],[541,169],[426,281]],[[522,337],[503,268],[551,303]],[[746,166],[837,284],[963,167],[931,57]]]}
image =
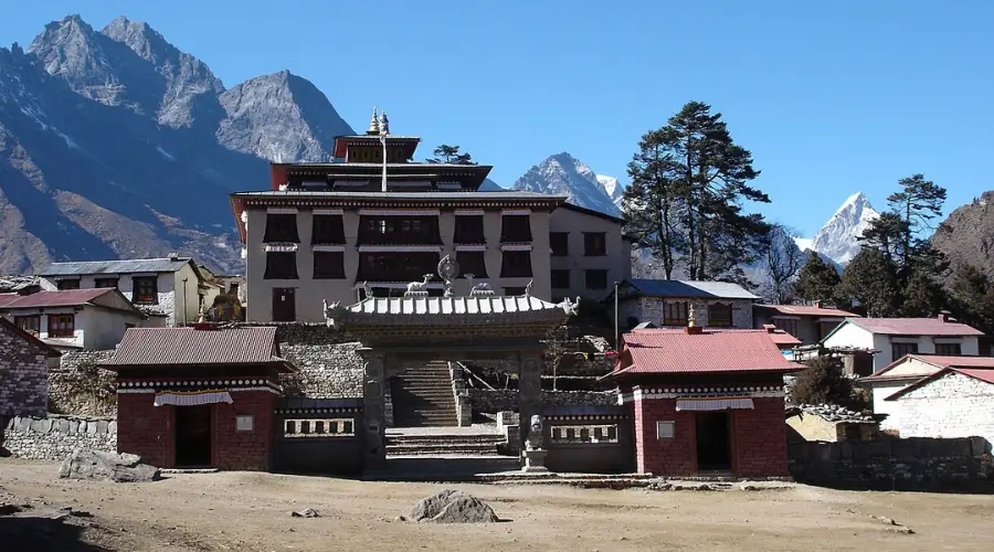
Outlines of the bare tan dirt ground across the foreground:
{"label": "bare tan dirt ground across the foreground", "polygon": [[[32,511],[72,507],[92,514],[74,535],[81,543],[59,550],[864,552],[992,550],[994,542],[990,496],[806,486],[710,492],[440,486],[251,473],[128,485],[59,480],[56,470],[51,463],[0,459],[0,498],[30,502]],[[417,499],[446,487],[487,500],[506,521],[396,520]],[[320,517],[289,516],[305,508]],[[890,518],[913,534],[875,517]],[[10,523],[0,518],[0,550],[14,550],[7,548],[14,542]]]}

